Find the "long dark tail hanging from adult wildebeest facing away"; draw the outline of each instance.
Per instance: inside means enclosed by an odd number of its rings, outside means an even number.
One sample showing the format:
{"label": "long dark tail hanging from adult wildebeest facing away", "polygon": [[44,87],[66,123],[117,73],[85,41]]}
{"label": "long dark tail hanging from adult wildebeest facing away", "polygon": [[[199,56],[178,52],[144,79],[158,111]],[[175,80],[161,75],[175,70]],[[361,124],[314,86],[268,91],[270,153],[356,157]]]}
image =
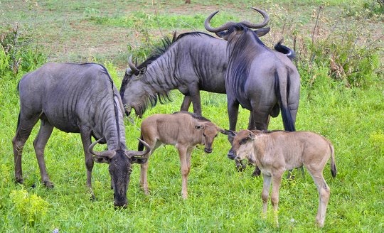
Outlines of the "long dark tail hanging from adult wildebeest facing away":
{"label": "long dark tail hanging from adult wildebeest facing away", "polygon": [[280,110],[282,111],[282,121],[286,131],[296,131],[294,127],[294,120],[288,107],[288,94],[289,94],[289,75],[287,75],[287,86],[280,85],[279,73],[274,71],[274,93],[277,95]]}

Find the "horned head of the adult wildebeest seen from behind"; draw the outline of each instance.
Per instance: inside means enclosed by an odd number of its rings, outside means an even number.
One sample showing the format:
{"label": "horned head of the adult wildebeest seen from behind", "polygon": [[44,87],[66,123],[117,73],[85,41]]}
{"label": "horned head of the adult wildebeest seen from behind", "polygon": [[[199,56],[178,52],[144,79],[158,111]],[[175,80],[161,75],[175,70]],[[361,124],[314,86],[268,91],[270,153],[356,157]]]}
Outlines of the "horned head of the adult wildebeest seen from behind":
{"label": "horned head of the adult wildebeest seen from behind", "polygon": [[[253,8],[253,10],[259,12],[264,17],[264,21],[262,23],[250,23],[249,21],[241,21],[240,23],[235,22],[227,22],[223,24],[223,26],[219,26],[217,28],[213,28],[210,26],[210,20],[215,16],[218,11],[215,11],[206,18],[206,21],[204,22],[204,26],[207,31],[210,31],[212,33],[215,33],[216,35],[220,36],[221,38],[225,40],[230,40],[230,38],[238,36],[238,34],[242,34],[242,31],[247,31],[247,28],[263,28],[267,25],[268,21],[270,21],[270,17],[267,15],[265,11],[262,11],[257,8]],[[266,29],[265,29],[266,30]],[[256,31],[253,31],[253,33],[256,36],[264,36],[265,33],[263,33],[265,30],[258,29]],[[266,33],[269,31],[266,31]]]}

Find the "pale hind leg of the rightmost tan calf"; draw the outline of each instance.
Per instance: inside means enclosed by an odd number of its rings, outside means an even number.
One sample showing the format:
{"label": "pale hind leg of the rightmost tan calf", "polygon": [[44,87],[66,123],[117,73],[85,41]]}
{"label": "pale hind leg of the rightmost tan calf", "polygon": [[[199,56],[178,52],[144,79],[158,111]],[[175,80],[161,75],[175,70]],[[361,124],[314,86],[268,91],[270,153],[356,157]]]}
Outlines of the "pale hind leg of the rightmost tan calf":
{"label": "pale hind leg of the rightmost tan calf", "polygon": [[[309,171],[311,173],[311,171]],[[319,227],[324,227],[326,217],[326,207],[329,201],[330,190],[329,186],[324,180],[322,171],[311,173],[314,183],[316,184],[317,190],[319,191],[319,208],[316,215],[316,223]]]}

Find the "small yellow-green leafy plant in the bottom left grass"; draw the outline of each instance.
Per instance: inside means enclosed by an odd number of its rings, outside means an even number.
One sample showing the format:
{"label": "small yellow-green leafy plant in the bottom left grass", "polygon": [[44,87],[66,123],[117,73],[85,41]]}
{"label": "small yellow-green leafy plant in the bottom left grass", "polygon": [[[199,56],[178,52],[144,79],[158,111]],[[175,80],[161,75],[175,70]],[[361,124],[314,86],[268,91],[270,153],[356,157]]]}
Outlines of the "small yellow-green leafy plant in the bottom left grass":
{"label": "small yellow-green leafy plant in the bottom left grass", "polygon": [[26,190],[12,190],[11,202],[14,203],[15,210],[28,224],[33,224],[48,212],[48,202],[38,195],[29,195]]}

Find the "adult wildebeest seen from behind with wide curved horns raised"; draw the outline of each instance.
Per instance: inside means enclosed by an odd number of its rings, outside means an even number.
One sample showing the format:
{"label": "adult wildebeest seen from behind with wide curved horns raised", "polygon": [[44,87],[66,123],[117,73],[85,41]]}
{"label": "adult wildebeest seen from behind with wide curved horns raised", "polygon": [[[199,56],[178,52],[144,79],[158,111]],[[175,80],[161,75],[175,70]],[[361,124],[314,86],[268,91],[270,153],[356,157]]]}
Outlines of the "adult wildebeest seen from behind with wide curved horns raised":
{"label": "adult wildebeest seen from behind with wide curved horns raised", "polygon": [[277,116],[281,109],[284,129],[295,131],[299,107],[299,72],[286,55],[274,53],[250,30],[265,27],[269,21],[265,11],[252,9],[262,14],[262,23],[228,22],[213,28],[210,20],[218,11],[210,14],[204,22],[207,31],[228,41],[225,89],[230,130],[236,128],[240,104],[251,111],[248,129],[267,129],[269,115]]}

